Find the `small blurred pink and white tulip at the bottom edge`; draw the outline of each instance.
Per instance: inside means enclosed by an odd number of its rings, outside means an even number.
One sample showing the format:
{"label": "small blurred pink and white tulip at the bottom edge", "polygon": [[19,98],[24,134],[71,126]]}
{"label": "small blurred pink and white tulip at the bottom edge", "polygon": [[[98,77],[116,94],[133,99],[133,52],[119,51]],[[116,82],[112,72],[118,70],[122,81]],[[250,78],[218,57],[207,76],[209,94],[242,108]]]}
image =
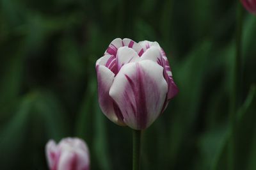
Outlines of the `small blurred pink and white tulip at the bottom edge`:
{"label": "small blurred pink and white tulip at the bottom edge", "polygon": [[45,147],[50,170],[89,170],[90,158],[86,143],[78,138],[65,138],[56,144],[50,140]]}

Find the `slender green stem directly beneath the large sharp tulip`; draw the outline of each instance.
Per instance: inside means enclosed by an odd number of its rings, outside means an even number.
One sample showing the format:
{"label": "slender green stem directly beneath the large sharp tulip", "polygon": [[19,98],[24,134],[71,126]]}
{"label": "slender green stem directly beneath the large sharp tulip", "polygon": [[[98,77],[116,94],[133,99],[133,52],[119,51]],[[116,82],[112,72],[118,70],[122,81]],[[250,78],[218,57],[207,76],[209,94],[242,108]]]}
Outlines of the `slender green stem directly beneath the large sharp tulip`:
{"label": "slender green stem directly beneath the large sharp tulip", "polygon": [[141,130],[133,130],[133,170],[140,170]]}

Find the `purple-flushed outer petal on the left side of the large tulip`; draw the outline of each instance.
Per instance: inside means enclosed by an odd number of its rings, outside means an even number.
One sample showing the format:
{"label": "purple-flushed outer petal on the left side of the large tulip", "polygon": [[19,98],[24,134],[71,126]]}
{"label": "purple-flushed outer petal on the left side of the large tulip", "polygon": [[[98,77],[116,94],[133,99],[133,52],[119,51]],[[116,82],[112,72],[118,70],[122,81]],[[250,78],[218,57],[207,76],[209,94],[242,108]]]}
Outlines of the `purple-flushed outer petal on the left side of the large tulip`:
{"label": "purple-flushed outer petal on the left side of the large tulip", "polygon": [[97,79],[98,79],[98,95],[99,95],[99,105],[102,112],[118,125],[124,125],[122,115],[113,104],[113,99],[109,97],[109,89],[113,83],[115,74],[111,72],[106,66],[97,65],[96,66]]}

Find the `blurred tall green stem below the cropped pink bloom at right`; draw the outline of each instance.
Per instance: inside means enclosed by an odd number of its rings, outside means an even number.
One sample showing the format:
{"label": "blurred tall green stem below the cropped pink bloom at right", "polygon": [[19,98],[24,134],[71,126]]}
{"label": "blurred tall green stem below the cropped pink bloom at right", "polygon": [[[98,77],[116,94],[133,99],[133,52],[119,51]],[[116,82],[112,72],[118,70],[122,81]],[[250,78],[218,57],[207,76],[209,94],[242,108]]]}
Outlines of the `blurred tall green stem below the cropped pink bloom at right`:
{"label": "blurred tall green stem below the cropped pink bloom at right", "polygon": [[232,97],[230,105],[230,144],[229,144],[229,166],[228,169],[233,170],[236,166],[236,111],[241,93],[241,45],[243,33],[243,7],[241,2],[237,0],[237,15],[236,15],[236,56],[234,58],[233,82],[232,82]]}

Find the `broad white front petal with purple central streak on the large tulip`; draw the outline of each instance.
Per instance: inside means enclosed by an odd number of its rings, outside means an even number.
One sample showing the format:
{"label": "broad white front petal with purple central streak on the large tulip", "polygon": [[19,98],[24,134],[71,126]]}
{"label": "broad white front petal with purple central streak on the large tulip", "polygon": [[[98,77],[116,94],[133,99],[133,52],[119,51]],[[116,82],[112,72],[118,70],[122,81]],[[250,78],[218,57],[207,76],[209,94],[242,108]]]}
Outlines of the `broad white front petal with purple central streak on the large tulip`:
{"label": "broad white front petal with purple central streak on the large tulip", "polygon": [[159,116],[167,93],[163,67],[150,60],[124,65],[109,91],[131,128],[149,127]]}

